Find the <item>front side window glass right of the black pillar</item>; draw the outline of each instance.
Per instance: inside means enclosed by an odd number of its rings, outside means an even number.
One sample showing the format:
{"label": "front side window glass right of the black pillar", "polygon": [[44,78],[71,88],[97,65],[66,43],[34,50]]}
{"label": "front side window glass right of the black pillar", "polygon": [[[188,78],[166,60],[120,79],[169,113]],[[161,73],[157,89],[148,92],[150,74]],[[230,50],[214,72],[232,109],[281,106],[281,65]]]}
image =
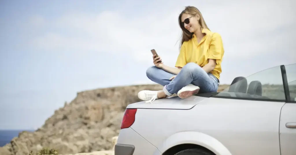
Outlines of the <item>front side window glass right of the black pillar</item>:
{"label": "front side window glass right of the black pillar", "polygon": [[296,101],[296,64],[285,65],[291,101]]}

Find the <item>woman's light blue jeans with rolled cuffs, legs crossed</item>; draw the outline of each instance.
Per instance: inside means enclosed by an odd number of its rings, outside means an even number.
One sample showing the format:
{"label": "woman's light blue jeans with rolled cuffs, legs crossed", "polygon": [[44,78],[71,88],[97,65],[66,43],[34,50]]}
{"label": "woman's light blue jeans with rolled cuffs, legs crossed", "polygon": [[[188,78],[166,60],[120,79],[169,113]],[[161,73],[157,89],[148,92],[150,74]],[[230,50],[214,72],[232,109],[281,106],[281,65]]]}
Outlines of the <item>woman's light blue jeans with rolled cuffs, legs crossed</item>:
{"label": "woman's light blue jeans with rolled cuffs, legs crossed", "polygon": [[163,91],[168,96],[177,94],[180,89],[188,84],[200,87],[199,93],[216,92],[218,90],[218,79],[213,74],[206,73],[196,63],[187,63],[173,80],[170,80],[170,78],[174,74],[156,66],[149,67],[146,75],[153,82],[163,85]]}

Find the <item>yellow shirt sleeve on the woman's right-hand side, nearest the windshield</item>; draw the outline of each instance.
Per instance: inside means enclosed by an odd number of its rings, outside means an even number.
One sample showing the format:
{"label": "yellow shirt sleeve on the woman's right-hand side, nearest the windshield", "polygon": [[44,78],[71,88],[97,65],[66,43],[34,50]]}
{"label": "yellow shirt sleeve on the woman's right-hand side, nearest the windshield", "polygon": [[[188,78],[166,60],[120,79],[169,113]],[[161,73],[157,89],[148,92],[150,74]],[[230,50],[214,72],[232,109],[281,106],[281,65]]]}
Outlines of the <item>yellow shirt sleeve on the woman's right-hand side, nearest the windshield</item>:
{"label": "yellow shirt sleeve on the woman's right-hand side, nearest the windshield", "polygon": [[[216,62],[221,62],[224,54],[222,38],[220,34],[214,33],[211,38],[208,59],[216,59]],[[217,61],[218,60],[218,61]]]}

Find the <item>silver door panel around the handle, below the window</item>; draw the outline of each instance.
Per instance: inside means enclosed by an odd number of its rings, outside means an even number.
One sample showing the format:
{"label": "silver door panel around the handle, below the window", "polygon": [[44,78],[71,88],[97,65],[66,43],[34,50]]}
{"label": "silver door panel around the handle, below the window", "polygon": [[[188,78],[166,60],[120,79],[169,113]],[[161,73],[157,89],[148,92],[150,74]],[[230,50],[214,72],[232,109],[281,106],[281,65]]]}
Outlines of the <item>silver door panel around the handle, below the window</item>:
{"label": "silver door panel around the handle, below the window", "polygon": [[281,155],[296,154],[296,128],[287,128],[286,123],[296,124],[296,103],[283,106],[279,124]]}

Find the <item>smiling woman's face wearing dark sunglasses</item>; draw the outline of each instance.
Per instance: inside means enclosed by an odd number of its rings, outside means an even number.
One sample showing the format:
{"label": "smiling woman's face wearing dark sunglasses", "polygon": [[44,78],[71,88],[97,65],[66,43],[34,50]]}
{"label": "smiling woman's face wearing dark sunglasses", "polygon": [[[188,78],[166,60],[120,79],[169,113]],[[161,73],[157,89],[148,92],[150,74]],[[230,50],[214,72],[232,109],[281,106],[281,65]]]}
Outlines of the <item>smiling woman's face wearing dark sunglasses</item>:
{"label": "smiling woman's face wearing dark sunglasses", "polygon": [[182,24],[184,24],[184,27],[191,33],[195,32],[200,27],[198,20],[198,17],[186,13],[181,16]]}

